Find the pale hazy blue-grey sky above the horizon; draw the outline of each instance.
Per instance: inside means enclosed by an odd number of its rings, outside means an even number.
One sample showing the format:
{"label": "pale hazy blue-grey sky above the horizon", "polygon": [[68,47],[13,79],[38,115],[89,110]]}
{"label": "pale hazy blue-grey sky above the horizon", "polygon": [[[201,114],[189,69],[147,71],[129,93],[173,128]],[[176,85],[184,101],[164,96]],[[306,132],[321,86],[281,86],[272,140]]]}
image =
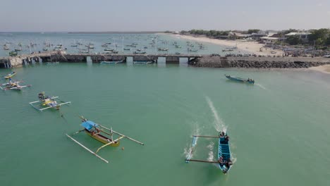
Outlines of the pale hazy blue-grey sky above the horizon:
{"label": "pale hazy blue-grey sky above the horizon", "polygon": [[0,32],[330,28],[330,0],[0,0]]}

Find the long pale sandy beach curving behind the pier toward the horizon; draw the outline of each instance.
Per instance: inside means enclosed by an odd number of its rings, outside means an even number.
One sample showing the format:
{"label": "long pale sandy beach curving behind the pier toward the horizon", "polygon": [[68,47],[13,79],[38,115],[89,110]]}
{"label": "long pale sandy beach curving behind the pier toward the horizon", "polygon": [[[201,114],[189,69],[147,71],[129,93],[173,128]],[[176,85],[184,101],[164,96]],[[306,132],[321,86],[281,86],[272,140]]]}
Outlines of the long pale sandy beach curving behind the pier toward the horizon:
{"label": "long pale sandy beach curving behind the pier toward the horizon", "polygon": [[[190,39],[194,40],[197,42],[209,42],[212,44],[219,44],[222,46],[228,46],[228,47],[233,47],[236,46],[237,48],[243,51],[248,51],[252,54],[257,54],[257,55],[282,55],[283,51],[281,50],[271,50],[271,49],[265,49],[263,47],[264,44],[259,44],[257,42],[248,42],[244,40],[224,40],[224,39],[210,39],[207,37],[193,37],[190,35],[172,35],[173,37],[178,37],[182,39]],[[260,51],[260,48],[262,48],[262,51]],[[271,51],[276,51],[276,54],[271,54]]]}

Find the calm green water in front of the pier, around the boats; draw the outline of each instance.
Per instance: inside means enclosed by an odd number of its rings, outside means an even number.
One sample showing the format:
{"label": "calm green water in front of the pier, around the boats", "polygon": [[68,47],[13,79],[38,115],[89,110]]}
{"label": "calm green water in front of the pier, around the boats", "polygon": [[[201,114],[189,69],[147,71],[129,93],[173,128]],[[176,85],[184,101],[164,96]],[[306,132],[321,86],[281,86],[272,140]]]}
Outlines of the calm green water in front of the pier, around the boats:
{"label": "calm green water in front of the pier, around the boats", "polygon": [[[312,71],[184,66],[37,65],[16,69],[32,87],[0,92],[1,185],[329,185],[330,76]],[[4,75],[9,70],[0,69]],[[252,77],[256,85],[226,80]],[[4,82],[4,80],[2,80]],[[59,111],[28,104],[45,91],[72,101]],[[104,163],[65,136],[83,115],[145,143],[104,148]],[[191,135],[228,128],[236,159],[223,175],[185,163]],[[75,138],[96,151],[101,145]],[[213,144],[213,145],[212,145]],[[199,139],[195,159],[216,159]]]}

